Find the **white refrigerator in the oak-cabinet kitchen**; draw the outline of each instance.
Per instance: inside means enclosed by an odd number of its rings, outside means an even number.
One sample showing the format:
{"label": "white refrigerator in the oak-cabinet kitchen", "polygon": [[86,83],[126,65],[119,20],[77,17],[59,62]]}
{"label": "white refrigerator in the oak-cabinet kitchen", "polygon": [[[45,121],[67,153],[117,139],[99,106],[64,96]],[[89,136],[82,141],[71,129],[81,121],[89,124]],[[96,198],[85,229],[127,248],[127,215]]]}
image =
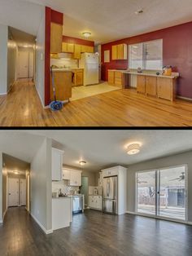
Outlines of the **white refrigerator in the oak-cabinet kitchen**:
{"label": "white refrigerator in the oak-cabinet kitchen", "polygon": [[98,84],[98,55],[82,53],[79,68],[84,68],[84,86]]}

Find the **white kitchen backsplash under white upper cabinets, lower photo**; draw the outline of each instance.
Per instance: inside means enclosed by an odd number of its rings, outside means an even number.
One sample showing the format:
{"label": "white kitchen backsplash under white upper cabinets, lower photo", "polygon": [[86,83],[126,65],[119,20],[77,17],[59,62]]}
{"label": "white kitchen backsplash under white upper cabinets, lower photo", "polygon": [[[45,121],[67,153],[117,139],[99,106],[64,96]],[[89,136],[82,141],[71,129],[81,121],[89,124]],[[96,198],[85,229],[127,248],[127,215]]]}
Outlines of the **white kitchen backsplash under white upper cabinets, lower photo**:
{"label": "white kitchen backsplash under white upper cabinets, lower photo", "polygon": [[59,192],[60,188],[61,188],[61,192],[67,195],[73,195],[75,191],[79,192],[79,187],[68,186],[67,180],[52,182],[52,192]]}

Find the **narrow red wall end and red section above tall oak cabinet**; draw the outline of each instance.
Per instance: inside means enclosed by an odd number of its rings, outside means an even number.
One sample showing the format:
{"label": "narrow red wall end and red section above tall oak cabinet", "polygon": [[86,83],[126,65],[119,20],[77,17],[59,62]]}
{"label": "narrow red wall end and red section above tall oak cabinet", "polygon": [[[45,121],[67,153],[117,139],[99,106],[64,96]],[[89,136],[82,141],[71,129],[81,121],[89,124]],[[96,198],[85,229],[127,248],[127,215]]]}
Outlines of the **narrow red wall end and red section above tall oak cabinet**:
{"label": "narrow red wall end and red section above tall oak cabinet", "polygon": [[63,24],[63,13],[46,7],[45,29],[45,106],[50,104],[50,23]]}

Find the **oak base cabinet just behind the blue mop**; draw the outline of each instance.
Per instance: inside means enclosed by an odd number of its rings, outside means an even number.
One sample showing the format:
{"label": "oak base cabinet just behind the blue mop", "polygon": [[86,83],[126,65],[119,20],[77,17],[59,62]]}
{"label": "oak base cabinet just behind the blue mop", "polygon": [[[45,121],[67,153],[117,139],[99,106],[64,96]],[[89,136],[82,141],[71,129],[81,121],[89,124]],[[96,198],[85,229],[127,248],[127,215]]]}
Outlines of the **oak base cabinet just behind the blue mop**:
{"label": "oak base cabinet just behind the blue mop", "polygon": [[[54,70],[55,93],[58,100],[68,100],[72,97],[72,72]],[[50,99],[54,100],[52,79],[50,77]]]}

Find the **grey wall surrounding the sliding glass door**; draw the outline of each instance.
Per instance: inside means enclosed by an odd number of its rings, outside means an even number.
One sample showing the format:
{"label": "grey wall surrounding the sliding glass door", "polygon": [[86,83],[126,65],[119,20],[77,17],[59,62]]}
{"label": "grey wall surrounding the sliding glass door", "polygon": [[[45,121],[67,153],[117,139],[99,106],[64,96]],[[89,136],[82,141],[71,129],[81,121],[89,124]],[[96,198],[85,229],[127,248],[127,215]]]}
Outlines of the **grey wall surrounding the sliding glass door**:
{"label": "grey wall surrounding the sliding glass door", "polygon": [[192,222],[192,151],[180,153],[170,157],[161,157],[151,161],[144,161],[128,167],[128,205],[127,210],[135,212],[136,182],[135,174],[139,170],[152,170],[168,166],[188,165],[188,220]]}

